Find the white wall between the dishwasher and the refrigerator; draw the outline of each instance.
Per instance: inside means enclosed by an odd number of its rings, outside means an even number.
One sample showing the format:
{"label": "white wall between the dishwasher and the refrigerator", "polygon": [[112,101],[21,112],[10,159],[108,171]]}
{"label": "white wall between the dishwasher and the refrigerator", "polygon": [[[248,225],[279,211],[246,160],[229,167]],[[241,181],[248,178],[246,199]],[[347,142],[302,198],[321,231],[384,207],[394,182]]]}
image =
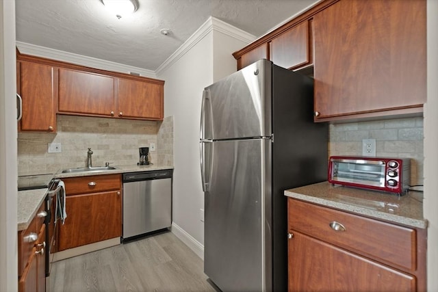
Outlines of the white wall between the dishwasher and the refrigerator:
{"label": "white wall between the dishwasher and the refrigerator", "polygon": [[[189,40],[193,42],[190,49],[158,74],[158,78],[166,80],[164,116],[174,116],[172,232],[201,258],[204,243],[204,226],[200,217],[200,209],[204,209],[204,194],[199,164],[202,92],[207,85],[235,72],[236,62],[231,53],[249,42],[215,29],[214,23],[217,20],[211,24],[212,29],[201,26],[206,34]],[[223,27],[224,23],[220,25]],[[198,34],[202,33],[198,31]]]}

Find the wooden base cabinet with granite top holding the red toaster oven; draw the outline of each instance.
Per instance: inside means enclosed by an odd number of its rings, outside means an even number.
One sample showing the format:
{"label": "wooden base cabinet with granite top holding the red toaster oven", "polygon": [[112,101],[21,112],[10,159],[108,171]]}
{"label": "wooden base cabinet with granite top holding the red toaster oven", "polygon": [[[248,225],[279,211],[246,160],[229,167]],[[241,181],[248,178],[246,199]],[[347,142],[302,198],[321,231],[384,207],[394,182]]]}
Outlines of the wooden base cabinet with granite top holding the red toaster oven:
{"label": "wooden base cabinet with granite top holding the red toaster oven", "polygon": [[416,196],[327,182],[285,194],[289,291],[426,291],[426,224]]}

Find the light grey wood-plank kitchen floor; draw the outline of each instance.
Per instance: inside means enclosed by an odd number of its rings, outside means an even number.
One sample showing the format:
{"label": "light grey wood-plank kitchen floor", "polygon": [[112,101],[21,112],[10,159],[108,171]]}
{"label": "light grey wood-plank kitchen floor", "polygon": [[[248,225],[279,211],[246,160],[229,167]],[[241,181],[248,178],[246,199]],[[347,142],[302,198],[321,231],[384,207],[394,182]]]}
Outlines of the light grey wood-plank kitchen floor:
{"label": "light grey wood-plank kitchen floor", "polygon": [[172,233],[159,233],[53,263],[50,292],[216,291],[203,261]]}

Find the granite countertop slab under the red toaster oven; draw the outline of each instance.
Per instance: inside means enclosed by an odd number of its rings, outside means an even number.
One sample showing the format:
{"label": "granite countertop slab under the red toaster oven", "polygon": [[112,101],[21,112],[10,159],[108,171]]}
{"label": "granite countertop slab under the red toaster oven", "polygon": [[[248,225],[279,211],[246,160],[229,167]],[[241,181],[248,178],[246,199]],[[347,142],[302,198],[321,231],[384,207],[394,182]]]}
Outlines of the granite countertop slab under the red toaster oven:
{"label": "granite countertop slab under the red toaster oven", "polygon": [[383,191],[332,186],[325,181],[287,189],[285,196],[396,224],[427,227],[423,217],[423,194],[418,191],[398,196]]}

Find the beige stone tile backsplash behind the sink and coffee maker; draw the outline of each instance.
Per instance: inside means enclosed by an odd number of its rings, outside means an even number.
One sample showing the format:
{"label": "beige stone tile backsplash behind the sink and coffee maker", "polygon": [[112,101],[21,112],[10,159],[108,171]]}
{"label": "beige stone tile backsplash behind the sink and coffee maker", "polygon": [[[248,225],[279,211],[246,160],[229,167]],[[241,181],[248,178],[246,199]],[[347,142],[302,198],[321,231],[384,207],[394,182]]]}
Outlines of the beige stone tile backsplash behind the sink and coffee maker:
{"label": "beige stone tile backsplash behind the sink and coffee maker", "polygon": [[[153,122],[58,115],[57,133],[18,133],[18,175],[84,167],[88,148],[94,166],[136,165],[138,148],[151,142],[157,150],[150,152],[150,161],[172,165],[172,131],[172,117]],[[53,142],[61,143],[61,153],[47,152],[47,144]]]}

